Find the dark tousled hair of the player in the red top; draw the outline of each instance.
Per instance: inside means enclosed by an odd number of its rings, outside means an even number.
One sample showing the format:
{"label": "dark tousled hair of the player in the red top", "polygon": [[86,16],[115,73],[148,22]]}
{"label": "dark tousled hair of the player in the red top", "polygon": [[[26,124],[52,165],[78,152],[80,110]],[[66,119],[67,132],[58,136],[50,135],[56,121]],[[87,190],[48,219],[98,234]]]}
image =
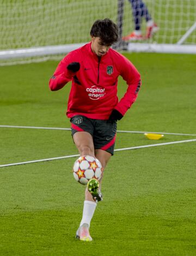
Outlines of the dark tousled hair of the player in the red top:
{"label": "dark tousled hair of the player in the red top", "polygon": [[118,26],[110,19],[96,20],[91,27],[90,35],[100,37],[103,45],[112,45],[118,41]]}

